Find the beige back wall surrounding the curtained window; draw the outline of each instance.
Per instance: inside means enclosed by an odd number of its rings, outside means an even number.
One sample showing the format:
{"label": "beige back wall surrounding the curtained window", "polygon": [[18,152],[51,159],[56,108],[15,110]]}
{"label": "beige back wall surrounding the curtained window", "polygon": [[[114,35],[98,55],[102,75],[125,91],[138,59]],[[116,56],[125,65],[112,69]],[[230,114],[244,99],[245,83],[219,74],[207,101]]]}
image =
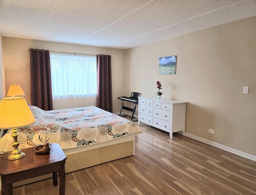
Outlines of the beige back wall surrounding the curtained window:
{"label": "beige back wall surrounding the curtained window", "polygon": [[[6,89],[9,88],[10,84],[20,84],[26,94],[25,99],[28,102],[30,102],[30,54],[28,49],[49,49],[50,51],[59,52],[111,55],[113,112],[120,110],[121,103],[117,97],[123,96],[126,92],[126,85],[124,85],[126,79],[124,71],[125,50],[14,37],[3,37],[2,39]],[[54,109],[90,106],[96,105],[96,97],[54,99],[53,104]]]}

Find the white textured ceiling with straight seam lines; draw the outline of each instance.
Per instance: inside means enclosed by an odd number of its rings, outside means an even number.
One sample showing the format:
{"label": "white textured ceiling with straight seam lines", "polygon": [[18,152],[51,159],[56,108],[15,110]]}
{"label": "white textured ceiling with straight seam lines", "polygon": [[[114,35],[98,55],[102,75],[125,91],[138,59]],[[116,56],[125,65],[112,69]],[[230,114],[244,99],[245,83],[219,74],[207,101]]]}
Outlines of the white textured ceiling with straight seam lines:
{"label": "white textured ceiling with straight seam lines", "polygon": [[256,0],[0,0],[3,36],[127,49],[256,16]]}

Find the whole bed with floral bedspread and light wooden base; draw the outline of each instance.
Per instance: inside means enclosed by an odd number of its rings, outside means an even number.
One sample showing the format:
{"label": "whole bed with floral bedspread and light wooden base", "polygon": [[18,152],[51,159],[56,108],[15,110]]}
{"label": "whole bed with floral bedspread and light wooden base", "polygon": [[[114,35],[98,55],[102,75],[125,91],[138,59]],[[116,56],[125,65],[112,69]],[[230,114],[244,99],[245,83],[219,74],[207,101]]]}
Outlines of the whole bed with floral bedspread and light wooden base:
{"label": "whole bed with floral bedspread and light wooden base", "polygon": [[[96,106],[45,111],[30,106],[36,123],[17,128],[19,148],[58,143],[67,156],[66,173],[134,155],[134,134],[138,125]],[[0,154],[11,151],[12,132],[0,139]],[[28,179],[14,187],[52,177]]]}

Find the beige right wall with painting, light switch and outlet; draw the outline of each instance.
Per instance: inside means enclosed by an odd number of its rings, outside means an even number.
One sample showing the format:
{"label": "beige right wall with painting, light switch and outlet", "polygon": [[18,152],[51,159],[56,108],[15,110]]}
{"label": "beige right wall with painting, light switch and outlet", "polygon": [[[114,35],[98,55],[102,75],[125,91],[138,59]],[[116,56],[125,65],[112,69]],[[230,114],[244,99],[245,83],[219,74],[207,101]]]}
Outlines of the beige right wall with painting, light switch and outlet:
{"label": "beige right wall with painting, light switch and outlet", "polygon": [[[176,75],[159,75],[159,57],[171,55]],[[132,48],[126,57],[128,91],[154,96],[160,81],[162,97],[188,102],[187,133],[256,155],[256,17]]]}

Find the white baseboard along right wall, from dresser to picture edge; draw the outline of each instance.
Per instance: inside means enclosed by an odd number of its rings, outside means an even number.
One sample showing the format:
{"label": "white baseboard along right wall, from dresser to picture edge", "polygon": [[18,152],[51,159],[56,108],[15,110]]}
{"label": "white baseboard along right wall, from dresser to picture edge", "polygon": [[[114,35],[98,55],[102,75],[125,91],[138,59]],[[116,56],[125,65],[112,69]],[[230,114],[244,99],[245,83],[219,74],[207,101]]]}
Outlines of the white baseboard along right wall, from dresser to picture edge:
{"label": "white baseboard along right wall, from dresser to picture edge", "polygon": [[224,146],[224,145],[221,145],[221,144],[218,144],[218,143],[215,143],[215,142],[212,142],[212,141],[209,141],[209,140],[206,140],[204,138],[200,138],[198,136],[194,136],[192,134],[189,134],[189,133],[185,133],[185,136],[189,137],[189,138],[192,138],[194,140],[198,140],[200,142],[204,142],[206,144],[209,144],[211,146],[214,146],[216,148],[220,148],[222,150],[225,150],[225,151],[228,151],[228,152],[231,152],[233,154],[237,154],[238,156],[242,156],[244,158],[248,158],[250,160],[253,160],[253,161],[256,161],[256,156],[252,155],[252,154],[247,154],[245,152],[241,152],[239,150],[236,150],[236,149],[233,149],[233,148],[229,148],[227,146]]}

